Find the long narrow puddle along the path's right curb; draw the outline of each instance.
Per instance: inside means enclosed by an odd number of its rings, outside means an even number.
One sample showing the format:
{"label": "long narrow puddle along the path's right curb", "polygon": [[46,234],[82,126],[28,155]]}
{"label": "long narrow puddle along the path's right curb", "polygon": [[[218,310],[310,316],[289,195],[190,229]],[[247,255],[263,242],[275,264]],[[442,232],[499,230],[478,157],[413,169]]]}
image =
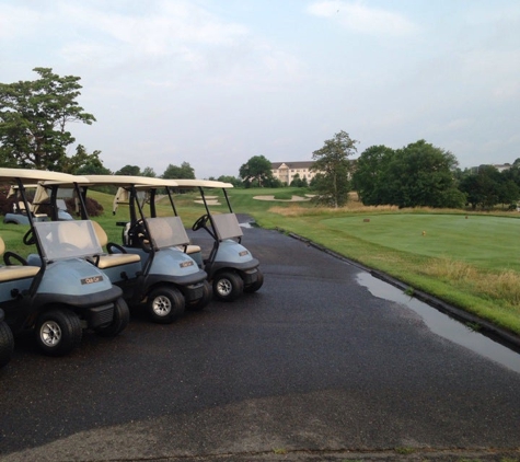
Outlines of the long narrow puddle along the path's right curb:
{"label": "long narrow puddle along the path's right curb", "polygon": [[477,332],[471,331],[461,322],[453,320],[420,300],[411,298],[401,289],[374,278],[369,273],[359,273],[357,275],[357,281],[360,286],[366,287],[374,297],[394,301],[415,311],[435,334],[462,345],[481,356],[485,356],[520,373],[520,354]]}

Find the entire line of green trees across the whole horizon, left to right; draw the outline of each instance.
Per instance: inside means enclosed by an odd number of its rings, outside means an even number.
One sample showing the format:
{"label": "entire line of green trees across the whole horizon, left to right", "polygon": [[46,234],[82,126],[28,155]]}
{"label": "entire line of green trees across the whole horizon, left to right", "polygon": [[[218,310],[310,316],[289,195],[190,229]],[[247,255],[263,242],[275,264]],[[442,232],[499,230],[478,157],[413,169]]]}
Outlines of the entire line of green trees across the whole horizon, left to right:
{"label": "entire line of green trees across the whole horizon, left to right", "polygon": [[[103,165],[101,151],[89,153],[82,145],[68,157],[67,148],[76,142],[69,124],[95,122],[77,102],[82,89],[80,78],[60,77],[49,68],[33,70],[39,76],[34,81],[0,83],[0,165],[79,175],[195,178],[188,162],[170,164],[158,175],[152,168],[141,170],[138,165],[112,172]],[[312,181],[294,175],[290,185],[310,188],[317,203],[333,207],[345,205],[353,190],[368,206],[489,209],[499,204],[512,208],[520,199],[520,159],[502,172],[492,165],[461,171],[451,152],[425,140],[401,149],[372,146],[358,159],[350,159],[357,153],[357,143],[344,130],[335,134],[312,153]],[[209,180],[235,187],[286,186],[274,177],[271,162],[264,155],[254,155],[242,164],[239,175]]]}

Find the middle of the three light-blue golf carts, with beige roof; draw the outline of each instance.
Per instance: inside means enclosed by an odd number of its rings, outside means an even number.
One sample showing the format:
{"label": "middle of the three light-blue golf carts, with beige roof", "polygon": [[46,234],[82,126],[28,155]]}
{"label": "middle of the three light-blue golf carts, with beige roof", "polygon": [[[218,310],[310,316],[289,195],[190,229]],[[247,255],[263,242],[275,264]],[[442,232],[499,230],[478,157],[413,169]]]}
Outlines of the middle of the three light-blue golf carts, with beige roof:
{"label": "middle of the three light-blue golf carts, with beige roof", "polygon": [[[189,239],[178,217],[158,217],[155,201],[150,201],[150,217],[145,216],[142,197],[155,196],[169,181],[142,176],[88,175],[83,185],[84,197],[93,185],[114,185],[129,205],[129,219],[119,221],[124,227],[123,245],[107,244],[113,257],[138,257],[137,272],[119,273],[104,269],[111,280],[119,286],[131,305],[145,305],[152,321],[166,324],[181,316],[185,309],[201,310],[211,300],[211,288],[206,273],[177,246],[187,245]],[[166,182],[166,183],[165,183]],[[114,210],[115,213],[115,210]],[[101,229],[97,230],[102,232]],[[101,236],[106,242],[106,233]],[[103,263],[103,259],[100,261]],[[100,265],[101,267],[101,265]]]}

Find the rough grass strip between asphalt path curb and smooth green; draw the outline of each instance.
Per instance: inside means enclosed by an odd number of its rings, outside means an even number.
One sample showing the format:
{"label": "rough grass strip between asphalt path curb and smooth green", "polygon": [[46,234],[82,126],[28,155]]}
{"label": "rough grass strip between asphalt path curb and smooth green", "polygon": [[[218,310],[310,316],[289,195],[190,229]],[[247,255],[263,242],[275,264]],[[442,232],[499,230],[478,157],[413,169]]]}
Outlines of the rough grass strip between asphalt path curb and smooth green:
{"label": "rough grass strip between asphalt path curb and smooth green", "polygon": [[[273,211],[276,213],[277,208],[273,208],[268,215]],[[340,256],[383,272],[414,290],[436,297],[520,336],[520,305],[516,290],[516,286],[520,286],[518,273],[484,270],[446,256],[424,256],[375,244],[350,235],[348,230],[331,229],[326,224],[330,217],[326,212],[278,215],[275,220],[262,212],[254,215],[261,227],[280,228],[285,232],[301,235]],[[274,221],[278,222],[276,227],[273,227]],[[515,286],[512,296],[504,296],[507,289],[494,289],[500,286]]]}

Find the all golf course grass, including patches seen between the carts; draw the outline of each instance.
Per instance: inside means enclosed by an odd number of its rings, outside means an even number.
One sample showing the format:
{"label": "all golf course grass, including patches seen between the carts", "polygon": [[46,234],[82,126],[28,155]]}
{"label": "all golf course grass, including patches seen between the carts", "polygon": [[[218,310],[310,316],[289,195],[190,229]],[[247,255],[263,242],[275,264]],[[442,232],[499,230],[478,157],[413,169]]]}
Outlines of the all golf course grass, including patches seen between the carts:
{"label": "all golf course grass, including patches seen between the carts", "polygon": [[[254,199],[304,194],[298,188],[229,192],[233,211],[252,216],[263,228],[299,234],[520,335],[520,213],[398,210],[363,207],[356,200],[345,208],[330,209],[311,203]],[[116,222],[128,220],[128,207],[119,206],[113,216],[113,195],[89,195],[104,207],[104,213],[94,219],[109,240],[119,243],[122,228]],[[221,204],[211,207],[213,210],[227,211],[220,192],[209,190],[207,195],[217,196]],[[177,211],[190,228],[206,212],[195,203],[198,194],[175,197]],[[167,199],[160,201],[158,213],[172,213]],[[26,227],[0,224],[7,250],[23,256],[34,252],[34,246],[22,244],[26,231]]]}

